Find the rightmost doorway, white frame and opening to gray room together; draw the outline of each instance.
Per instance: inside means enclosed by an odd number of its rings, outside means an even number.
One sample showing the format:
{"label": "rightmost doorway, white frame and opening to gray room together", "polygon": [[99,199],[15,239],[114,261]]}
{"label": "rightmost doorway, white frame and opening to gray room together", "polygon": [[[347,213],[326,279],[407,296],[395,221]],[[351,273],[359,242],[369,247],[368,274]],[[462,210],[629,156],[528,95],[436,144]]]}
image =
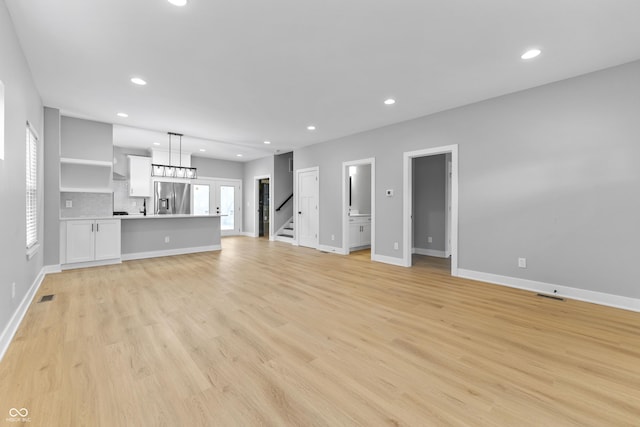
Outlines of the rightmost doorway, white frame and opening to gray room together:
{"label": "rightmost doorway, white frame and opening to gray room together", "polygon": [[414,252],[441,266],[451,257],[457,276],[458,146],[405,152],[403,198],[403,265],[413,265]]}

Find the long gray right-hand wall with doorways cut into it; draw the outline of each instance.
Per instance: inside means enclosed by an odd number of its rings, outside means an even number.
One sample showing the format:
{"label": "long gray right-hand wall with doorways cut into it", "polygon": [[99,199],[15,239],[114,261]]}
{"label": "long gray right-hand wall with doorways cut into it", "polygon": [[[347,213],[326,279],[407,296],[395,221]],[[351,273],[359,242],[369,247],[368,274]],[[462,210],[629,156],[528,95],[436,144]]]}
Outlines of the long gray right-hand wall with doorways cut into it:
{"label": "long gray right-hand wall with doorways cut into it", "polygon": [[376,252],[400,259],[403,152],[458,144],[460,268],[640,297],[639,75],[636,61],[297,150],[296,169],[320,169],[320,244],[341,245],[341,163],[376,157]]}

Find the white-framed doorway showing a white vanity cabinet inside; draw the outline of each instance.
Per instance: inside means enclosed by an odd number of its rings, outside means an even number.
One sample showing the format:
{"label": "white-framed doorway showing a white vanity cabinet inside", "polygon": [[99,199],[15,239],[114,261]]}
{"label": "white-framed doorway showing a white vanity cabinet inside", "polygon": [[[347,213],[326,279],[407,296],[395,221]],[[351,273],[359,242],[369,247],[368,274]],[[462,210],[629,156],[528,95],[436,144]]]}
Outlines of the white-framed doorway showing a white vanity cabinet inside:
{"label": "white-framed doorway showing a white vanity cabinet inside", "polygon": [[376,164],[374,158],[342,163],[342,252],[375,254]]}

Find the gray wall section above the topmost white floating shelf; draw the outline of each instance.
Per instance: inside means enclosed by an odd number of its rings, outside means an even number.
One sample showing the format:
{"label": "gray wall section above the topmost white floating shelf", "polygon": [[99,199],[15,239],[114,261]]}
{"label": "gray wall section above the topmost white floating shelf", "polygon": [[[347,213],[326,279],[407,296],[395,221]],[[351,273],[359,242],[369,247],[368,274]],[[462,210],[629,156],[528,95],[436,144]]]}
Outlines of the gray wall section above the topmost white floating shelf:
{"label": "gray wall section above the topmost white floating shelf", "polygon": [[60,134],[61,157],[113,161],[112,124],[62,116]]}

